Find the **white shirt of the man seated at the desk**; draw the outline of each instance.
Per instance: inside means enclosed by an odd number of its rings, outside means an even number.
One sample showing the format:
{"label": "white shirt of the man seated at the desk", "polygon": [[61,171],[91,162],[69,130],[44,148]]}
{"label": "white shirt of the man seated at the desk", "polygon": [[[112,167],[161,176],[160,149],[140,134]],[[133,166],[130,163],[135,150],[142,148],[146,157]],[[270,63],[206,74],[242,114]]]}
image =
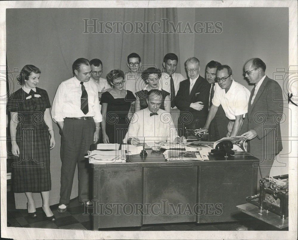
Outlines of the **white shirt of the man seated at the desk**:
{"label": "white shirt of the man seated at the desk", "polygon": [[145,137],[145,142],[174,142],[174,139],[179,137],[170,113],[162,109],[157,111],[158,115],[150,116],[150,113],[148,108],[134,113],[129,124],[128,132],[123,139],[124,143],[127,143],[127,140],[133,137],[140,140]]}

